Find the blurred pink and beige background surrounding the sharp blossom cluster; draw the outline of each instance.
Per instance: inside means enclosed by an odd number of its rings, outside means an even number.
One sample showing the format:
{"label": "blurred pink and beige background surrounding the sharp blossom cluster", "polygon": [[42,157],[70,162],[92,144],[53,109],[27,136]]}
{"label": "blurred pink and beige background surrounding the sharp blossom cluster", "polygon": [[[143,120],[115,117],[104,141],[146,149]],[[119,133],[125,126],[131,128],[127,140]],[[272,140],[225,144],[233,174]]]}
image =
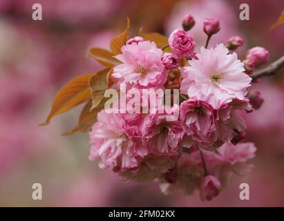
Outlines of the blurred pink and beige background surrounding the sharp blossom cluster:
{"label": "blurred pink and beige background surrounding the sharp blossom cluster", "polygon": [[[86,57],[90,46],[108,48],[112,37],[131,18],[131,34],[146,31],[169,35],[181,28],[182,17],[196,19],[192,33],[205,44],[202,21],[220,19],[222,29],[210,43],[226,43],[233,35],[245,39],[240,59],[253,46],[264,46],[270,61],[284,52],[284,26],[269,31],[284,1],[245,1],[250,20],[240,21],[243,1],[203,0],[52,0],[41,1],[43,20],[32,20],[32,0],[0,0],[0,206],[284,206],[284,70],[263,78],[254,88],[265,102],[245,115],[247,137],[258,147],[255,167],[245,177],[231,177],[227,189],[212,202],[198,193],[163,195],[158,184],[128,184],[115,173],[88,161],[88,135],[60,133],[75,126],[80,111],[43,122],[59,88],[73,77],[100,70]],[[32,184],[43,186],[43,200],[32,200]],[[242,201],[238,186],[247,182],[250,200]]]}

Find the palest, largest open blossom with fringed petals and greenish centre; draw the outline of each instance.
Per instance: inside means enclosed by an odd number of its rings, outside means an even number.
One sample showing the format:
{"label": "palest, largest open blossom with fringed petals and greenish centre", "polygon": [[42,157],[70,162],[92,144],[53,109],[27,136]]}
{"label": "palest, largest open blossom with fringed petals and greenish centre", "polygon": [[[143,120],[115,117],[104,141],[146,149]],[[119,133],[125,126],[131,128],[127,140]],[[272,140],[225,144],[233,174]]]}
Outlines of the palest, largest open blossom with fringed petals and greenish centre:
{"label": "palest, largest open blossom with fringed petals and greenish centre", "polygon": [[197,57],[182,70],[181,93],[208,102],[216,109],[232,99],[245,99],[252,79],[243,73],[243,63],[236,53],[229,54],[219,44],[216,48],[201,48]]}

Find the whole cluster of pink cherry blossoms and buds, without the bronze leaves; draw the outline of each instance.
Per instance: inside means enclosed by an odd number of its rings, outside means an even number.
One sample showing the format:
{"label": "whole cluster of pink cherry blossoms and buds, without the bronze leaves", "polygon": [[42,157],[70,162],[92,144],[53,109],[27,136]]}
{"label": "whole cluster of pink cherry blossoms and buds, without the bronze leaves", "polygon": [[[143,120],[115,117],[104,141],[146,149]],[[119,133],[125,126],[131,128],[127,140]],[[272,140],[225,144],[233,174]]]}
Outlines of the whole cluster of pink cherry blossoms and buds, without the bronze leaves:
{"label": "whole cluster of pink cherry blossoms and buds, without the bronze leaves", "polygon": [[89,133],[90,159],[99,157],[100,168],[125,180],[156,180],[164,193],[198,189],[202,200],[212,200],[231,174],[252,167],[248,160],[256,147],[240,142],[246,128],[240,112],[250,113],[263,102],[258,92],[249,91],[249,75],[269,53],[255,47],[241,61],[236,49],[243,38],[238,36],[208,48],[220,31],[218,19],[205,19],[207,42],[197,50],[190,32],[194,24],[191,15],[185,16],[183,29],[174,30],[163,48],[140,36],[122,46],[115,56],[122,63],[111,74],[113,88],[178,89],[179,100],[151,113],[100,111]]}

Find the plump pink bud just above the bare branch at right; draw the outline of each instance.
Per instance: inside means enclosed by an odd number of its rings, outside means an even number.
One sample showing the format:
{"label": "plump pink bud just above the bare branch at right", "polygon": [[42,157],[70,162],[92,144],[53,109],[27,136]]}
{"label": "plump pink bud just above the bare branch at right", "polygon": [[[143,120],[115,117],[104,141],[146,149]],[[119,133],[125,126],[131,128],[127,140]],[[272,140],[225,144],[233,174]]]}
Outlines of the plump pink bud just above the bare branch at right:
{"label": "plump pink bud just above the bare branch at right", "polygon": [[269,52],[263,47],[254,47],[247,51],[247,59],[254,61],[256,67],[265,64],[269,59]]}

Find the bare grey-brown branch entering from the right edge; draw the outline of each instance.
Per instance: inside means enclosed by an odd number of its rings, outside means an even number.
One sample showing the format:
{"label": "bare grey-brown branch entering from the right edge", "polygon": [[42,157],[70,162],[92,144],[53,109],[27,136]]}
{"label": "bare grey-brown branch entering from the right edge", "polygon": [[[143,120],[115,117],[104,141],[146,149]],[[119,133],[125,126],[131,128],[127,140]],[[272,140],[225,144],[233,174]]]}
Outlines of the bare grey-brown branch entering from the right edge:
{"label": "bare grey-brown branch entering from the right edge", "polygon": [[272,64],[269,64],[269,66],[257,70],[254,74],[250,75],[252,77],[252,81],[256,81],[256,79],[260,77],[275,75],[278,70],[280,70],[284,66],[284,55],[277,59],[276,61],[272,62]]}

